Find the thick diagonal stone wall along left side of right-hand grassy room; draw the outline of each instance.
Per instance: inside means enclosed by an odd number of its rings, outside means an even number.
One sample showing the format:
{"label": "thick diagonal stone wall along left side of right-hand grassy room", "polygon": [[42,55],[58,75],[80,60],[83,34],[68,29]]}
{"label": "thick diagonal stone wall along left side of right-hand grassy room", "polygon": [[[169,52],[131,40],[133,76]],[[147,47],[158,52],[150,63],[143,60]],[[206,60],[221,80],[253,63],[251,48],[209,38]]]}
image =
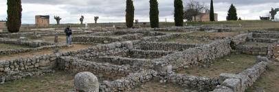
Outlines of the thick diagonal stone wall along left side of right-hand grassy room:
{"label": "thick diagonal stone wall along left side of right-hand grassy room", "polygon": [[210,65],[214,59],[230,54],[232,51],[230,42],[230,40],[217,40],[211,44],[174,52],[160,59],[155,59],[153,69],[166,72],[178,70],[185,66]]}

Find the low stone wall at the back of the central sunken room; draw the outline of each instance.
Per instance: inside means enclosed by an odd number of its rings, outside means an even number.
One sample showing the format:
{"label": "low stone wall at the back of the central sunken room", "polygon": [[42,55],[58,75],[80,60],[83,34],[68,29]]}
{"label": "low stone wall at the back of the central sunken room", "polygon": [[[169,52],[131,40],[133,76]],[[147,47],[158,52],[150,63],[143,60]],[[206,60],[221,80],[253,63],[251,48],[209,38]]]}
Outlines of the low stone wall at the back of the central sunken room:
{"label": "low stone wall at the back of the central sunken room", "polygon": [[203,44],[179,44],[171,42],[142,42],[135,44],[135,48],[140,50],[183,51],[202,45]]}

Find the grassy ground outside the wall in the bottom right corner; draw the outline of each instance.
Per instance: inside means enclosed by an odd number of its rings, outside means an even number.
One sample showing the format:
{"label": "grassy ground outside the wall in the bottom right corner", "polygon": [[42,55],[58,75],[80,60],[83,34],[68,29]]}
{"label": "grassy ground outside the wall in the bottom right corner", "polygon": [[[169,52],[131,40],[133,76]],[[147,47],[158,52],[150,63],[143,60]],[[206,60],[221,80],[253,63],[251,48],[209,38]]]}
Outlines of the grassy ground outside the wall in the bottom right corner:
{"label": "grassy ground outside the wall in the bottom right corner", "polygon": [[266,92],[278,92],[279,91],[279,62],[273,62],[269,64],[267,72],[265,72],[254,85],[246,90],[246,92],[254,92],[263,90]]}

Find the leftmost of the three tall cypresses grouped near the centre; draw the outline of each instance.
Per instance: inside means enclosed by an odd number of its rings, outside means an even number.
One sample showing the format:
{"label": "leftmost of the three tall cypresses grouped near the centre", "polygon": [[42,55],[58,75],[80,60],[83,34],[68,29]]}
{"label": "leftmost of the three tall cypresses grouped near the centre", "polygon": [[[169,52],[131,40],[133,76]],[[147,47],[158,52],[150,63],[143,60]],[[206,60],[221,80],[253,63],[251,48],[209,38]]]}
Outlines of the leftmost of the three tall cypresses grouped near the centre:
{"label": "leftmost of the three tall cypresses grouped near the centre", "polygon": [[134,22],[134,11],[133,0],[126,0],[126,27],[133,27]]}

